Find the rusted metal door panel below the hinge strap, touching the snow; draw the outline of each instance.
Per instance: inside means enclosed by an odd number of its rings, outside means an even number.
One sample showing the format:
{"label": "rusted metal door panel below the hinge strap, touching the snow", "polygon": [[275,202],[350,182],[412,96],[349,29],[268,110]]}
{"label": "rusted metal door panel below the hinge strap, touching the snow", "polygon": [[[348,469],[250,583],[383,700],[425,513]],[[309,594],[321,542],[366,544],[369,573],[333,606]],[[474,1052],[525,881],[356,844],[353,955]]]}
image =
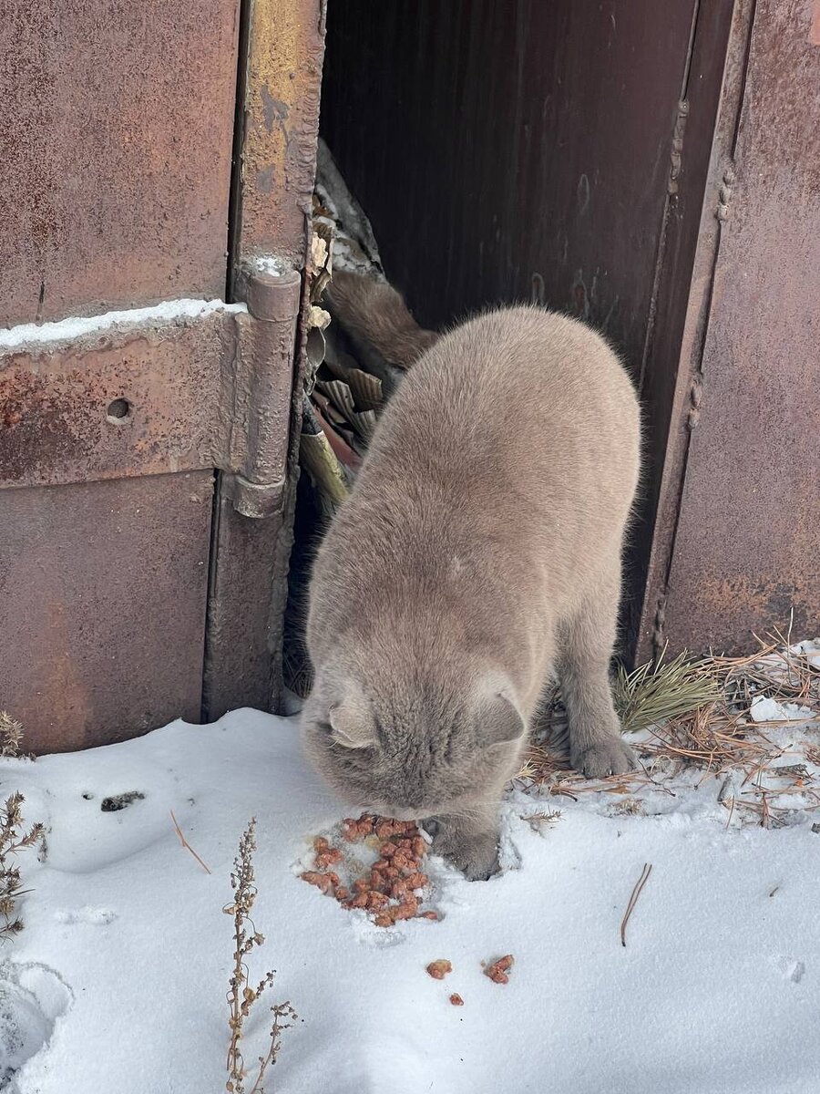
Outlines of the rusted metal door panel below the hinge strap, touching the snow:
{"label": "rusted metal door panel below the hinge strap, touching the snow", "polygon": [[0,491],[0,708],[27,748],[199,720],[212,484]]}

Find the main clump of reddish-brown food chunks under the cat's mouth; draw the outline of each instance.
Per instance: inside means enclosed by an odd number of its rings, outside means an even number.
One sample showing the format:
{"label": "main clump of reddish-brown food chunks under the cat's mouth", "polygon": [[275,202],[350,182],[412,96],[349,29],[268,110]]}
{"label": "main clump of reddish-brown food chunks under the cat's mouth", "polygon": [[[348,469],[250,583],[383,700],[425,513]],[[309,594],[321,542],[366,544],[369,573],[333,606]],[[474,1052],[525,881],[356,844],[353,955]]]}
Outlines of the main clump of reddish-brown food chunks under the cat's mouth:
{"label": "main clump of reddish-brown food chunks under the cat's mouth", "polygon": [[358,819],[348,817],[342,822],[341,839],[374,848],[377,857],[372,866],[350,886],[342,885],[328,866],[342,863],[344,853],[324,836],[317,836],[313,841],[316,869],[304,871],[303,881],[336,897],[343,908],[371,912],[376,927],[393,927],[402,919],[438,919],[436,911],[421,911],[419,907],[429,884],[421,869],[427,845],[413,821],[367,813]]}

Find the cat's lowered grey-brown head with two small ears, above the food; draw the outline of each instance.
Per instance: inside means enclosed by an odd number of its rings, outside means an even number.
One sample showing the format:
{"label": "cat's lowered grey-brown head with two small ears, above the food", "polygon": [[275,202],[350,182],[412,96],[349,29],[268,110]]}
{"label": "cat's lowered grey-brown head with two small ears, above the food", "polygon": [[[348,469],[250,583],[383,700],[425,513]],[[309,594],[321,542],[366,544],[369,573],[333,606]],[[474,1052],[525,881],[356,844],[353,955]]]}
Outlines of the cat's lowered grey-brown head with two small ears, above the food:
{"label": "cat's lowered grey-brown head with two small ears, above the food", "polygon": [[305,749],[349,804],[399,819],[469,811],[515,775],[525,722],[509,682],[408,674],[374,683],[319,670],[302,712]]}

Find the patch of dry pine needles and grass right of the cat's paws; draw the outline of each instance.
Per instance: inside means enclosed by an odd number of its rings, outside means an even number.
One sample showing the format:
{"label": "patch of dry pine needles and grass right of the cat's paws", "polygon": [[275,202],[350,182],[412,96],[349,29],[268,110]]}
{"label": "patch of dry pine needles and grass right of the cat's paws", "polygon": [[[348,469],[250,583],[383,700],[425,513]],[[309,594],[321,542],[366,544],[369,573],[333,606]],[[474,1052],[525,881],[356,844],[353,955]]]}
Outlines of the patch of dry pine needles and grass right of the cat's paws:
{"label": "patch of dry pine needles and grass right of the cat's paws", "polygon": [[[546,729],[525,756],[518,779],[525,787],[577,799],[588,792],[634,794],[659,790],[681,775],[690,784],[721,780],[718,801],[733,816],[742,814],[770,827],[795,811],[820,810],[820,747],[800,735],[799,747],[784,743],[784,722],[754,722],[758,696],[820,710],[820,671],[795,652],[780,631],[746,657],[686,655],[622,673],[616,683],[624,724],[642,730],[641,768],[623,776],[585,780],[569,764],[565,715],[553,705]],[[778,740],[775,740],[777,737]],[[795,763],[783,760],[794,755]]]}

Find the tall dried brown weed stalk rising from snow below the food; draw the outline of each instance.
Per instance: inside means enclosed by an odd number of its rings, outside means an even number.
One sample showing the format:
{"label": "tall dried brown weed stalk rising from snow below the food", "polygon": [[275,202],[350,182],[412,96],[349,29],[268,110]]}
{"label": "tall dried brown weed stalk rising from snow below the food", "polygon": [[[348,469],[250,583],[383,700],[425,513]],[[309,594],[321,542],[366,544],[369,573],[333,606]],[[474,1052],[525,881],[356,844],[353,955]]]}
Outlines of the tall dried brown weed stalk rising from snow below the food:
{"label": "tall dried brown weed stalk rising from snow below the food", "polygon": [[[250,1014],[254,1003],[273,982],[273,973],[266,973],[256,988],[248,984],[248,967],[246,958],[256,946],[261,946],[265,935],[260,934],[250,912],[257,896],[254,884],[254,851],[256,850],[256,817],[251,817],[239,840],[239,851],[234,859],[231,874],[231,888],[234,893],[233,903],[222,910],[234,917],[234,969],[227,990],[227,1003],[231,1009],[229,1028],[231,1041],[227,1049],[227,1094],[245,1094],[245,1081],[248,1070],[242,1055],[241,1041],[244,1033],[245,1019]],[[254,1085],[248,1094],[265,1094],[265,1075],[268,1068],[277,1062],[282,1031],[293,1025],[296,1012],[290,1002],[274,1003],[271,1006],[273,1024],[270,1029],[270,1044],[265,1056],[257,1057],[257,1072]]]}

